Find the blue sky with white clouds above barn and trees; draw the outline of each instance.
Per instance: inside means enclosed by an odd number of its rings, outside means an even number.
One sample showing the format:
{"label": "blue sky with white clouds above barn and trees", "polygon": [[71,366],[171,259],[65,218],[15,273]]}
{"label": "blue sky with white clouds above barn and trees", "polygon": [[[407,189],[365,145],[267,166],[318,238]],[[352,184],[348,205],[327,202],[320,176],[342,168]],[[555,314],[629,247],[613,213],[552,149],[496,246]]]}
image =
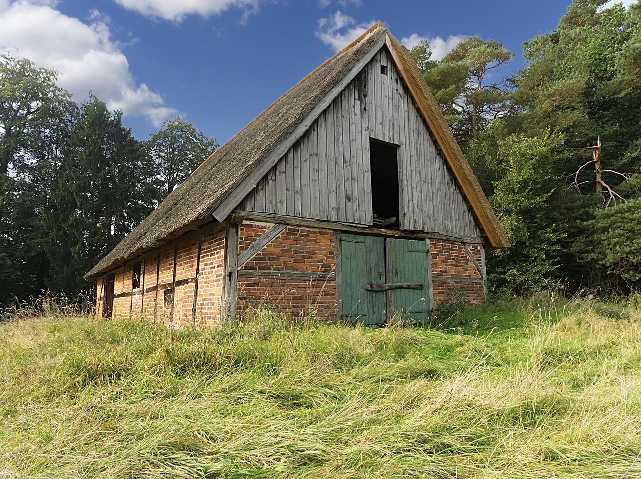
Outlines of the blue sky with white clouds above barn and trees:
{"label": "blue sky with white clouds above barn and trees", "polygon": [[519,70],[522,43],[570,3],[0,0],[0,51],[58,70],[77,102],[91,91],[122,110],[137,140],[179,115],[222,145],[377,20],[409,48],[428,40],[437,59],[470,35],[494,38]]}

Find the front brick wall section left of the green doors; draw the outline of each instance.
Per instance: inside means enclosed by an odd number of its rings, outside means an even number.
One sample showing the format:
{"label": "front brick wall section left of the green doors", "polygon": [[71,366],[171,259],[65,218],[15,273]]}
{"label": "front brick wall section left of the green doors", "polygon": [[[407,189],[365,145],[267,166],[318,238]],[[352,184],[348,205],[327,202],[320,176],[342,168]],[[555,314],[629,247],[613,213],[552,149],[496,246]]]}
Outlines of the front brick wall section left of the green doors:
{"label": "front brick wall section left of the green doors", "polygon": [[[238,253],[258,240],[272,225],[243,223],[238,229]],[[288,226],[241,268],[256,272],[335,272],[333,231]],[[336,283],[331,280],[238,279],[237,311],[268,307],[272,311],[336,317]]]}

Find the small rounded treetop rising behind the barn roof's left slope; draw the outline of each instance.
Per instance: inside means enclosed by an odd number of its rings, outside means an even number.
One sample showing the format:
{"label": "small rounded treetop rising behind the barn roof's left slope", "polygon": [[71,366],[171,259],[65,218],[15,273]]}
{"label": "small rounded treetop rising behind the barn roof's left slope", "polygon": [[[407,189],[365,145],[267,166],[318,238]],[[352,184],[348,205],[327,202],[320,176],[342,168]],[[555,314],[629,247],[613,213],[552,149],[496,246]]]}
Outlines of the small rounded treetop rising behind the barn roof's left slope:
{"label": "small rounded treetop rising behind the barn roof's left slope", "polygon": [[180,117],[163,122],[147,142],[156,174],[163,183],[163,197],[183,183],[218,146],[215,138],[208,138]]}

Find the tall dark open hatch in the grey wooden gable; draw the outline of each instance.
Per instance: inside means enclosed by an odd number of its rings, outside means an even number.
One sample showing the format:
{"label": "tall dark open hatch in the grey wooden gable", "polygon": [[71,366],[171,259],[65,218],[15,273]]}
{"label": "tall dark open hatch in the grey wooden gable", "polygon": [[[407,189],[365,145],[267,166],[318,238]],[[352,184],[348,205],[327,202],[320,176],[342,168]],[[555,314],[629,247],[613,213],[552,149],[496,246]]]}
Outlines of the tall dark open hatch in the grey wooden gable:
{"label": "tall dark open hatch in the grey wooden gable", "polygon": [[398,145],[369,139],[374,226],[399,229]]}

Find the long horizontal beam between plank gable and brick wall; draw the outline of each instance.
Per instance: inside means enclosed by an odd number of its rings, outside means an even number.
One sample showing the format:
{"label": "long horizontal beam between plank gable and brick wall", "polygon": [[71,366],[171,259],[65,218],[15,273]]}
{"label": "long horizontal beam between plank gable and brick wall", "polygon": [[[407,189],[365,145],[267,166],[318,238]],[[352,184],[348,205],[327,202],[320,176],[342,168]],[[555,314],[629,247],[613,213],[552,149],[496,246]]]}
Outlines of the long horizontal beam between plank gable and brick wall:
{"label": "long horizontal beam between plank gable and brick wall", "polygon": [[318,229],[335,229],[356,234],[372,234],[376,236],[390,236],[394,238],[406,238],[409,240],[432,240],[456,241],[457,243],[470,243],[474,245],[485,244],[485,238],[476,236],[462,236],[454,234],[441,234],[431,231],[397,231],[395,229],[374,228],[368,225],[354,225],[353,223],[340,223],[333,221],[312,220],[310,218],[298,218],[297,216],[272,215],[271,213],[257,213],[256,211],[235,210],[234,217],[242,220],[252,220],[269,223],[282,223],[291,226],[305,226]]}

